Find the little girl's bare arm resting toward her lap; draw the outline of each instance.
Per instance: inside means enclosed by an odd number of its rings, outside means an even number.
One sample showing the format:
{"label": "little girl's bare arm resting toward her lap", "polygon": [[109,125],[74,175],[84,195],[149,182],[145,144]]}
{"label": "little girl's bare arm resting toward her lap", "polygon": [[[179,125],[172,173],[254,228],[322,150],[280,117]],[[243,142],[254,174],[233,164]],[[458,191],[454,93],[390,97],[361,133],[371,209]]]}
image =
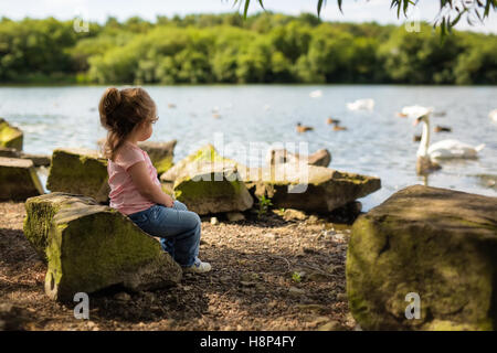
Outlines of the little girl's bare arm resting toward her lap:
{"label": "little girl's bare arm resting toward her lap", "polygon": [[147,164],[144,161],[133,164],[128,169],[131,180],[138,189],[139,193],[157,204],[172,207],[175,200],[162,191],[162,189],[150,180]]}

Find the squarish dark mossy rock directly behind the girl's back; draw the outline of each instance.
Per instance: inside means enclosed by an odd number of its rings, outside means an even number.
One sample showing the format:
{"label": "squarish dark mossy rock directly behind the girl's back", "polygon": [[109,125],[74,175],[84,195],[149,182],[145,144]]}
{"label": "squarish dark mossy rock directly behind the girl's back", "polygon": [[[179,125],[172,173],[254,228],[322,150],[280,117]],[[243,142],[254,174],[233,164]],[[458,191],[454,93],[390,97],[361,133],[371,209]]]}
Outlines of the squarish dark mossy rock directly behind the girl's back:
{"label": "squarish dark mossy rock directly behind the girl's back", "polygon": [[82,194],[107,202],[107,160],[88,149],[55,149],[52,154],[46,189],[52,192]]}

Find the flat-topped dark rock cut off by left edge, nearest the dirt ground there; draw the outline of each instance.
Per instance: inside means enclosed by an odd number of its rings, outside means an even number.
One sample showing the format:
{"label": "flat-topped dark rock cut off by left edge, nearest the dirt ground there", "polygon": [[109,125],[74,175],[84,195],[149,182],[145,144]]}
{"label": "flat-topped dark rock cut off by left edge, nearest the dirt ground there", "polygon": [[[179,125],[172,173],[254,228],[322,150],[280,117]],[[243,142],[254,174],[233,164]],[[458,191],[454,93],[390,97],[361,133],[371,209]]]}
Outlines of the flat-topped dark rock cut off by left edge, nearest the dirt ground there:
{"label": "flat-topped dark rock cut off by left edge, nearest the dirt ground there", "polygon": [[32,161],[0,157],[0,200],[24,201],[43,193]]}

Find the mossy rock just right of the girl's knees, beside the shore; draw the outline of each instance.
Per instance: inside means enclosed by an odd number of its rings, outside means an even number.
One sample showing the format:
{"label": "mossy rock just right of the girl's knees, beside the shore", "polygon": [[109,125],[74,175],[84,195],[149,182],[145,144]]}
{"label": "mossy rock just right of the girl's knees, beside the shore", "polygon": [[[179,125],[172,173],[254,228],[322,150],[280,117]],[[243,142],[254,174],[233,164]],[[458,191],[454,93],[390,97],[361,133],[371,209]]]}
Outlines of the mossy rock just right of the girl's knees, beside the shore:
{"label": "mossy rock just right of the girl's knees, beside the shore", "polygon": [[246,211],[254,203],[236,169],[213,170],[211,163],[187,170],[176,179],[173,190],[177,200],[200,215]]}

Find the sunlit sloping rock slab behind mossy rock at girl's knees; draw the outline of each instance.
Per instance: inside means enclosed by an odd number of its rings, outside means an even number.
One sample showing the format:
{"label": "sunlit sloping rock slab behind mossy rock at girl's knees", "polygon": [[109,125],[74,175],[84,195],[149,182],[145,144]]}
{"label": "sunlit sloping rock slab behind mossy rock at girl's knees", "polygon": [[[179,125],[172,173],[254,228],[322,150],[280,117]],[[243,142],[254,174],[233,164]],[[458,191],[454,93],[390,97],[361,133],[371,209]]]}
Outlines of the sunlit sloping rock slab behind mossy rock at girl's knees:
{"label": "sunlit sloping rock slab behind mossy rock at girl's knees", "polygon": [[[166,173],[160,175],[160,181],[165,183],[173,183],[179,175],[188,173],[187,169],[200,169],[208,163],[211,163],[214,169],[233,168],[235,165],[239,165],[237,162],[219,154],[214,146],[208,143],[201,147],[194,153],[191,153],[180,160]],[[199,164],[200,167],[198,167],[197,164]]]}

